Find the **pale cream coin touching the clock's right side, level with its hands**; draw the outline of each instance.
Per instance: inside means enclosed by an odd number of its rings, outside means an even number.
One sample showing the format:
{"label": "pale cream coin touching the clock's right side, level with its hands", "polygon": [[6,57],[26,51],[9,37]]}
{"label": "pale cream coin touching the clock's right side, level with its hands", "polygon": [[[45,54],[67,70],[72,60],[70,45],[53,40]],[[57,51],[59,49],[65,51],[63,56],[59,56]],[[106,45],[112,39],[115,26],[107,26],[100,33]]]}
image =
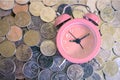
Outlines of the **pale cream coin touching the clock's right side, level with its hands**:
{"label": "pale cream coin touching the clock's right side, level with its hands", "polygon": [[112,49],[112,47],[114,45],[113,36],[111,36],[110,34],[104,34],[104,35],[102,35],[101,40],[102,40],[101,47],[103,49],[106,49],[106,50]]}

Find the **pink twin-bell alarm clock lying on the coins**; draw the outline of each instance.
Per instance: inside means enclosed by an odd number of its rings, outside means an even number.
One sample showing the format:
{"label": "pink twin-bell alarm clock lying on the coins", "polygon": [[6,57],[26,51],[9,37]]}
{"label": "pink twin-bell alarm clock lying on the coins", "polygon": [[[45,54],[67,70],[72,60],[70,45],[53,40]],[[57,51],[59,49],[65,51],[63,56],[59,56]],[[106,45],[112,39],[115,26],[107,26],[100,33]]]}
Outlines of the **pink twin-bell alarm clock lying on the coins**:
{"label": "pink twin-bell alarm clock lying on the coins", "polygon": [[[82,6],[86,7],[86,5]],[[99,17],[91,12],[85,14],[83,18],[73,19],[64,13],[58,16],[55,26],[59,27],[56,44],[60,54],[72,63],[85,63],[92,60],[98,54],[101,44],[97,28],[99,22]]]}

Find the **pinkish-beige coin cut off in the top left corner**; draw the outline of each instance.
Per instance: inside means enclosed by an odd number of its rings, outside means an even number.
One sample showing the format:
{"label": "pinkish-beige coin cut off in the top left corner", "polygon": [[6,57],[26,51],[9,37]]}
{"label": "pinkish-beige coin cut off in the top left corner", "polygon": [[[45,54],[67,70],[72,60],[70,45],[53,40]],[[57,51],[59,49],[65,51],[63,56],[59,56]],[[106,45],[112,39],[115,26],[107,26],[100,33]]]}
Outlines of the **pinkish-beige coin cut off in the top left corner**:
{"label": "pinkish-beige coin cut off in the top left corner", "polygon": [[10,10],[14,7],[14,0],[0,0],[0,8]]}

